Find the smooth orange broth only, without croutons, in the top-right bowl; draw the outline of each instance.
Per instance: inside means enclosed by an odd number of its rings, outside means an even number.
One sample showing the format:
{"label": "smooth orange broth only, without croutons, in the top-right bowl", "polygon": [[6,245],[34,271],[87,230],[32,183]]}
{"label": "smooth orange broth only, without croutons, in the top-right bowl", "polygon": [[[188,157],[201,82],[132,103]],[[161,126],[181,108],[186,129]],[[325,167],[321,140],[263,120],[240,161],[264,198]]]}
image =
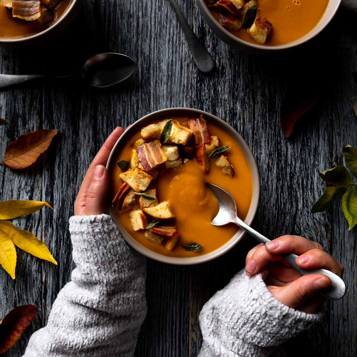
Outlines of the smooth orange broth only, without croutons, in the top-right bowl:
{"label": "smooth orange broth only, without croutons, in the top-right bowl", "polygon": [[[310,32],[322,19],[330,0],[258,0],[257,16],[266,17],[272,29],[266,45],[277,46],[296,41]],[[211,9],[219,22],[219,12]],[[248,29],[230,31],[240,39],[257,44]]]}

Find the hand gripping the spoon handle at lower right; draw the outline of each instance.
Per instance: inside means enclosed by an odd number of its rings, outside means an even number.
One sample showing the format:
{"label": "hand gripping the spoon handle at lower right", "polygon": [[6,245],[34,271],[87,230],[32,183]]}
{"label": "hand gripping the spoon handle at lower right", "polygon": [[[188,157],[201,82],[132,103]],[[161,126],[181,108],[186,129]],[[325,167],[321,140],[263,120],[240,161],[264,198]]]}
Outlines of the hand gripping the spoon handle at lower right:
{"label": "hand gripping the spoon handle at lower right", "polygon": [[301,276],[290,264],[278,256],[295,253],[298,266],[304,269],[323,268],[338,276],[343,266],[323,251],[320,244],[299,236],[282,236],[254,247],[246,257],[246,274],[253,276],[261,272],[267,288],[284,305],[306,313],[318,312],[325,298],[319,293],[331,285],[326,275]]}

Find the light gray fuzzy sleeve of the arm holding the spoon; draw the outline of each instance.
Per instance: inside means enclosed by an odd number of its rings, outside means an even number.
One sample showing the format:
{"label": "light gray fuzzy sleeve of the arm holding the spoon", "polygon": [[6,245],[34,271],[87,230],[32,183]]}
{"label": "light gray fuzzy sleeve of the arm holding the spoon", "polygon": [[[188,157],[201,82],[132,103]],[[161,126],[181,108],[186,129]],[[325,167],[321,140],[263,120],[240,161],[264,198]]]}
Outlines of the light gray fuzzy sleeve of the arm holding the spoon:
{"label": "light gray fuzzy sleeve of the arm holding the spoon", "polygon": [[[198,357],[266,357],[320,319],[283,305],[260,274],[241,270],[203,306],[203,345]],[[279,352],[280,353],[280,352]]]}

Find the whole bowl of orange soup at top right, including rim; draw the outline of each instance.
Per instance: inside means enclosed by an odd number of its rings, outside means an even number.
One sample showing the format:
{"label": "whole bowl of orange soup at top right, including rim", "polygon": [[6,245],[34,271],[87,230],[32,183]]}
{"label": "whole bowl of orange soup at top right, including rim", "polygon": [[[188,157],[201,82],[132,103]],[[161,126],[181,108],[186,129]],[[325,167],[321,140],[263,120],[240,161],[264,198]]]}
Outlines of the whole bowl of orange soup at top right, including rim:
{"label": "whole bowl of orange soup at top right, including rim", "polygon": [[211,30],[248,52],[300,45],[323,30],[341,0],[197,0]]}

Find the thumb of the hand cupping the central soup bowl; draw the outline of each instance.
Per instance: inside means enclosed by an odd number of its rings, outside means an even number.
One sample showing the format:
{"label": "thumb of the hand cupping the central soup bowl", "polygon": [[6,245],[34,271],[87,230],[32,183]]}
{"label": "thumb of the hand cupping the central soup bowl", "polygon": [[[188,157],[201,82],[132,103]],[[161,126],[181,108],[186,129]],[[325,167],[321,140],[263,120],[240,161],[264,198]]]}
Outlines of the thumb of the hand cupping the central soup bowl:
{"label": "thumb of the hand cupping the central soup bowl", "polygon": [[108,194],[108,187],[108,171],[103,165],[97,165],[87,191],[86,207],[84,210],[86,216],[106,213],[105,201]]}

